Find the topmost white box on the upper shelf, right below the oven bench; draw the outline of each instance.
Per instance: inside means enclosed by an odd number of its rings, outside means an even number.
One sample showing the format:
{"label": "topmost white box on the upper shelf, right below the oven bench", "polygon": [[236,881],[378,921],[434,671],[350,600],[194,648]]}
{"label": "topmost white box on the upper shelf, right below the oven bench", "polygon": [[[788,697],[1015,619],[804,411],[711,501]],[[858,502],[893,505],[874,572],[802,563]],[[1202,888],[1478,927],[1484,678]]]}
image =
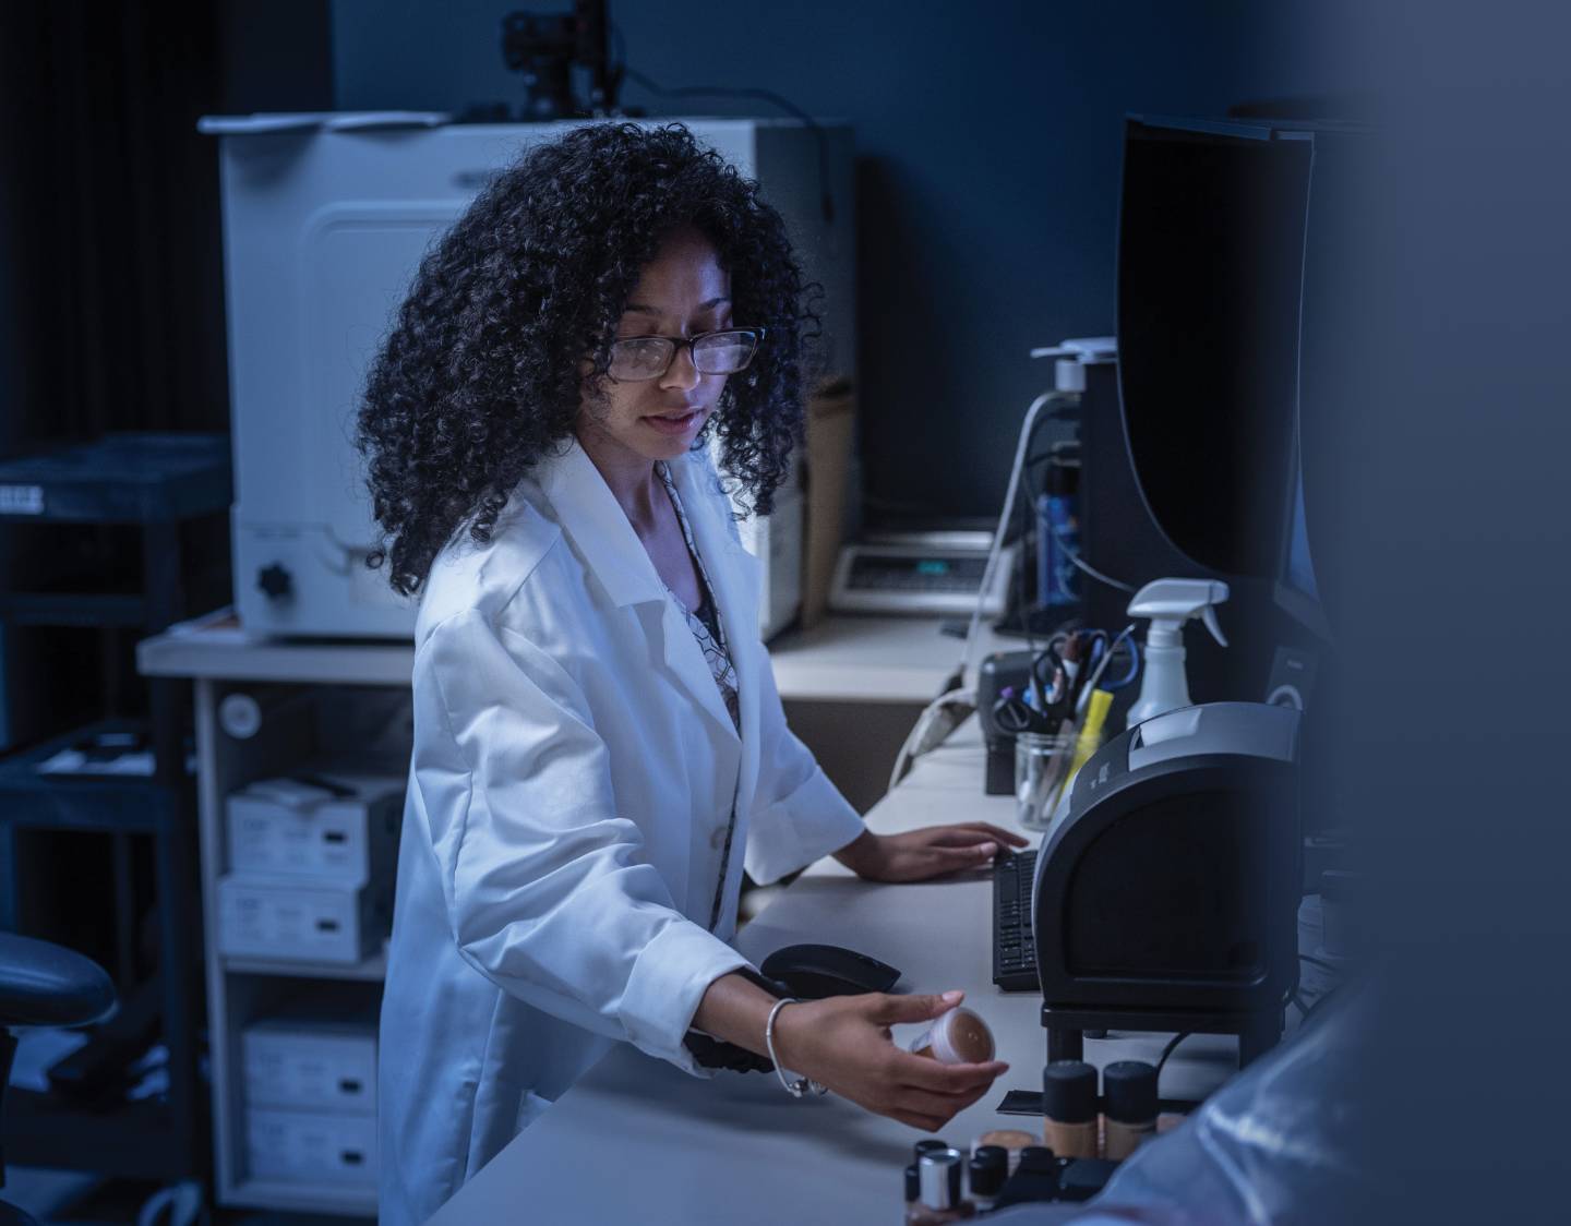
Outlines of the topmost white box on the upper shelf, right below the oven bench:
{"label": "topmost white box on the upper shelf, right below the oven bench", "polygon": [[331,766],[259,779],[229,794],[229,871],[322,881],[391,876],[404,813],[402,777]]}

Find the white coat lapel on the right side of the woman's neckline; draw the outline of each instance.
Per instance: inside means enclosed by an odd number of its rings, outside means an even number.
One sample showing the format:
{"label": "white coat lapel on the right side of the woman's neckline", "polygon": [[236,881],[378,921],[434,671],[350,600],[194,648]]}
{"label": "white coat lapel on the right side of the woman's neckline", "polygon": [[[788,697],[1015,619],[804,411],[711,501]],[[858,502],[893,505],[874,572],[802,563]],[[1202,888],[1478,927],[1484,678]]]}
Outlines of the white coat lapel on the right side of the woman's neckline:
{"label": "white coat lapel on the right side of the woman's neckline", "polygon": [[[698,545],[715,606],[726,629],[726,645],[731,648],[731,664],[737,670],[737,705],[742,716],[742,774],[737,780],[737,796],[743,810],[749,804],[759,774],[759,667],[768,667],[759,644],[759,575],[757,559],[742,548],[732,524],[723,516],[729,513],[731,499],[718,488],[715,471],[693,454],[671,465],[671,474],[687,510],[693,543]],[[710,681],[710,689],[713,689]],[[729,717],[727,717],[729,724]]]}

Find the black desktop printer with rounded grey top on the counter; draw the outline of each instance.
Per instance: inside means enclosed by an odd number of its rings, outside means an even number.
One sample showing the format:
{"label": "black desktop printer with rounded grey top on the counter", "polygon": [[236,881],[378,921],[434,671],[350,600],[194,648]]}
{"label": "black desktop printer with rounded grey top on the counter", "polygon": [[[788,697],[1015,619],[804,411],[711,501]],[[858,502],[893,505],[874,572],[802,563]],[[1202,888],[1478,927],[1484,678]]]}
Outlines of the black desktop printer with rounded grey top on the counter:
{"label": "black desktop printer with rounded grey top on the counter", "polygon": [[1219,702],[1148,719],[1081,768],[1037,856],[1048,1058],[1086,1030],[1282,1033],[1298,984],[1299,713]]}

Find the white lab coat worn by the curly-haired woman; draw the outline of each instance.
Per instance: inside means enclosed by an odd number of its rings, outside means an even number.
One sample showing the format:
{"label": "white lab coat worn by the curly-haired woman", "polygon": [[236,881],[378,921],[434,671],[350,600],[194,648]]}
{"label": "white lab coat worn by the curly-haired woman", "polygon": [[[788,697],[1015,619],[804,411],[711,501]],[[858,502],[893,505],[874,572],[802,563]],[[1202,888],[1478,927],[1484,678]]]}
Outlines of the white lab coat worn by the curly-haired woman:
{"label": "white lab coat worn by the curly-haired woman", "polygon": [[426,582],[382,1003],[385,1226],[424,1221],[619,1041],[699,1074],[682,1038],[704,989],[746,965],[726,943],[742,849],[767,882],[864,829],[786,727],[757,564],[713,468],[690,454],[671,469],[731,645],[740,738],[577,443],[518,485],[489,545],[460,535]]}

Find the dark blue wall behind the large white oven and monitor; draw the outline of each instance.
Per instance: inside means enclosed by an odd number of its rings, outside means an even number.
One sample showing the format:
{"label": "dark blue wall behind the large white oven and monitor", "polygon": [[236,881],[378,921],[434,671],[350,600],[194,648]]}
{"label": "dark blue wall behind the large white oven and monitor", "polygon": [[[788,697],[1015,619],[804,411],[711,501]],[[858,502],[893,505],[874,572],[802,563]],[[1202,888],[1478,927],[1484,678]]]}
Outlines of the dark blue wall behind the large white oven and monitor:
{"label": "dark blue wall behind the large white oven and monitor", "polygon": [[[498,24],[566,0],[335,0],[344,108],[515,102]],[[996,515],[1032,345],[1112,331],[1122,119],[1219,113],[1306,82],[1246,3],[611,3],[665,86],[742,85],[855,126],[866,493]],[[630,85],[627,105],[672,108]],[[754,102],[705,102],[756,115]]]}

